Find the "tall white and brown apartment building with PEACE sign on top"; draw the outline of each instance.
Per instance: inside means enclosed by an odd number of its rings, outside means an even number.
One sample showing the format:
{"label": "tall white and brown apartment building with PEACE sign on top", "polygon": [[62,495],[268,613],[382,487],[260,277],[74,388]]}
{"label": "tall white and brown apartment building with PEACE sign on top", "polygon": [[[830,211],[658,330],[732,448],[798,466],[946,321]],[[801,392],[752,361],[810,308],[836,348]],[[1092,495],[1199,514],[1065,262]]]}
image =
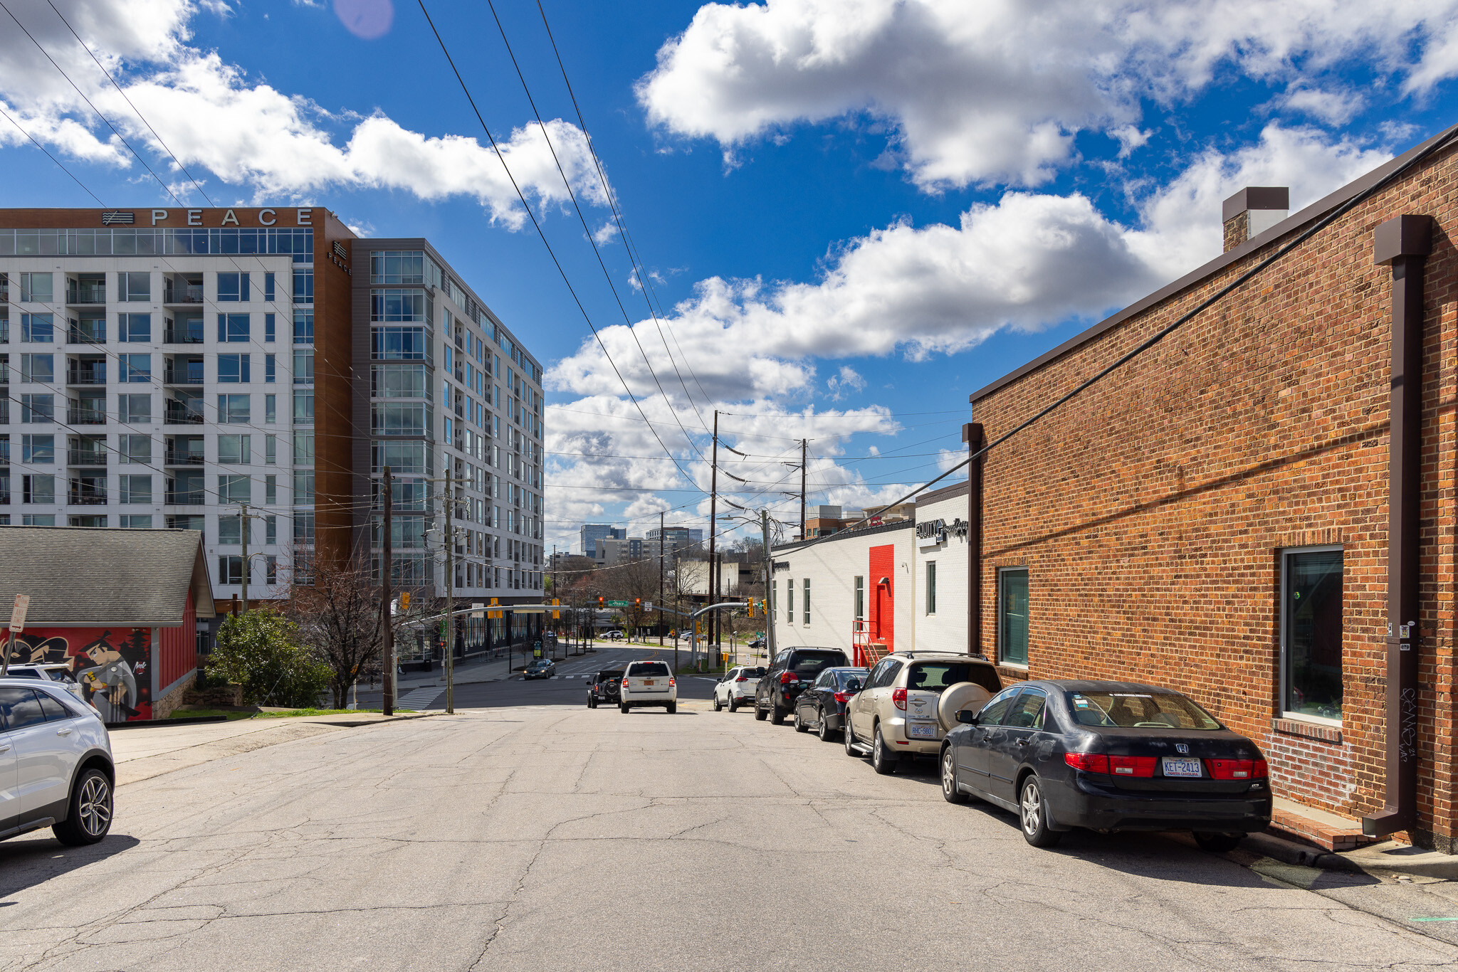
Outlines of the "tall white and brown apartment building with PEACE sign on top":
{"label": "tall white and brown apartment building with PEACE sign on top", "polygon": [[[0,210],[0,525],[204,535],[220,599],[379,546],[541,599],[541,366],[429,243],[322,207]],[[376,567],[378,571],[378,567]]]}

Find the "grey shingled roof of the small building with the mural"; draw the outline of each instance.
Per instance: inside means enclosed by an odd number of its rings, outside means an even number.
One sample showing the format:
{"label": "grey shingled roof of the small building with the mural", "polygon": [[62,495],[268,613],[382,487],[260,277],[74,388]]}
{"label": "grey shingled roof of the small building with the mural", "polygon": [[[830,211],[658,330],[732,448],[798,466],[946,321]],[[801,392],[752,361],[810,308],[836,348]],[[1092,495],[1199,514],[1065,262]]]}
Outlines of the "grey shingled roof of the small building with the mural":
{"label": "grey shingled roof of the small building with the mural", "polygon": [[213,586],[198,530],[0,526],[0,611],[31,595],[26,627],[182,624],[187,592],[211,618]]}

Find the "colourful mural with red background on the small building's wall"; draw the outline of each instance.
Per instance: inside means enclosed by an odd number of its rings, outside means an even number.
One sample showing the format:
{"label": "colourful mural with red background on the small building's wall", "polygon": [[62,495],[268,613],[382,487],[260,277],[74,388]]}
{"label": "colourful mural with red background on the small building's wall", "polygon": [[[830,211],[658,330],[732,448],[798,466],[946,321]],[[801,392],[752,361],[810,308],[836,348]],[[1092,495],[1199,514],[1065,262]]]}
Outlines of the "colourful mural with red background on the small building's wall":
{"label": "colourful mural with red background on the small building's wall", "polygon": [[152,718],[152,628],[41,628],[16,635],[15,660],[66,663],[104,721]]}

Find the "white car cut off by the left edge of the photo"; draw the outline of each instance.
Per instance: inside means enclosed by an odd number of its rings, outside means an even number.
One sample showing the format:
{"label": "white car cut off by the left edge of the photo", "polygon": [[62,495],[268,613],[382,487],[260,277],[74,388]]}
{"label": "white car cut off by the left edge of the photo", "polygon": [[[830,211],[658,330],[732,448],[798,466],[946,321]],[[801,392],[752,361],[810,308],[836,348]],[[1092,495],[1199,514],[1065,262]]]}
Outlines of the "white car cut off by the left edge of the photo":
{"label": "white car cut off by the left edge of the photo", "polygon": [[95,844],[115,781],[95,708],[50,681],[0,679],[0,839],[48,826],[61,844]]}

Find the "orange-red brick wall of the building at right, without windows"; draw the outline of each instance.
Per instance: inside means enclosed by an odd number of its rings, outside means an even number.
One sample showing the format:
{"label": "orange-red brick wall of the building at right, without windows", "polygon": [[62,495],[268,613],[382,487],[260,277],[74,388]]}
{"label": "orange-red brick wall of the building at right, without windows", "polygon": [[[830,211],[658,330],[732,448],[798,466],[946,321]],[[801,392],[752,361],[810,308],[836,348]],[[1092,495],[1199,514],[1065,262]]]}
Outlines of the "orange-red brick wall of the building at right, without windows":
{"label": "orange-red brick wall of the building at right, without windows", "polygon": [[[996,571],[1029,568],[1029,676],[1188,692],[1267,750],[1277,793],[1357,816],[1384,801],[1391,270],[1372,230],[1430,214],[1426,271],[1420,835],[1452,848],[1458,160],[1441,153],[1162,344],[999,446]],[[974,404],[989,439],[1266,255],[1247,256]],[[1344,549],[1341,743],[1273,729],[1280,558]]]}

